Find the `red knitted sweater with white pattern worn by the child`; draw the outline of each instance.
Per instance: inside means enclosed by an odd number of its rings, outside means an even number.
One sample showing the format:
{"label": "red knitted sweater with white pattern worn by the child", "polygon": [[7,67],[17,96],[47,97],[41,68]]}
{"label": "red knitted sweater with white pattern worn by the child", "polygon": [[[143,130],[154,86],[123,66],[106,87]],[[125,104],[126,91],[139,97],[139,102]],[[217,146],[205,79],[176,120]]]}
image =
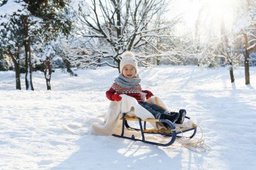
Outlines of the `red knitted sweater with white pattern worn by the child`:
{"label": "red knitted sweater with white pattern worn by the child", "polygon": [[121,87],[117,83],[113,83],[112,87],[110,87],[110,89],[106,91],[106,97],[113,101],[113,99],[111,98],[112,95],[114,95],[115,93],[121,93],[134,97],[135,99],[137,99],[138,102],[141,102],[141,92],[143,92],[143,90],[141,89],[141,85],[139,84],[135,85],[135,87],[125,88]]}

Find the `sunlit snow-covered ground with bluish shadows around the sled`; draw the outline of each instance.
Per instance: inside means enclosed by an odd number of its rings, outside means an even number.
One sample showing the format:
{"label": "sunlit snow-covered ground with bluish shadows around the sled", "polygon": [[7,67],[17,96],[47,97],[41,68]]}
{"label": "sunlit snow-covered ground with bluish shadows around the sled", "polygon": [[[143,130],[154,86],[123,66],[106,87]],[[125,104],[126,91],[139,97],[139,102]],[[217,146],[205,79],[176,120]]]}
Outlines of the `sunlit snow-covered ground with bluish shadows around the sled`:
{"label": "sunlit snow-covered ground with bluish shadows around the sled", "polygon": [[[92,136],[90,124],[106,113],[105,91],[117,69],[33,73],[35,91],[15,90],[15,73],[0,72],[0,169],[254,169],[256,167],[256,67],[251,85],[244,69],[161,66],[139,69],[143,89],[169,108],[185,108],[203,128],[210,151],[197,153],[178,142],[168,147],[114,136]],[[95,119],[94,119],[95,118]],[[65,126],[79,127],[79,135]],[[82,128],[81,128],[82,127]],[[195,136],[197,137],[197,136]]]}

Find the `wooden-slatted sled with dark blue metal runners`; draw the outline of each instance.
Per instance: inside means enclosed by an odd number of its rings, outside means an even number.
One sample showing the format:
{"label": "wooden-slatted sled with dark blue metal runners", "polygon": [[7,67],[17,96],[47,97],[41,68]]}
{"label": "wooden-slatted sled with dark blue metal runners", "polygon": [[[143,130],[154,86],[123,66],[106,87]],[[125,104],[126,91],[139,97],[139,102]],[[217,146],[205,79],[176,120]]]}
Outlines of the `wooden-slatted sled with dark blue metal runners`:
{"label": "wooden-slatted sled with dark blue metal runners", "polygon": [[[185,118],[190,119],[188,116],[186,116]],[[136,116],[126,116],[126,114],[123,114],[123,118],[121,118],[122,121],[122,129],[121,129],[121,134],[113,134],[113,136],[119,137],[119,138],[127,138],[130,140],[135,140],[135,141],[141,141],[141,142],[145,142],[148,144],[155,144],[158,146],[169,146],[170,144],[173,144],[174,141],[176,140],[176,138],[180,138],[180,137],[186,137],[186,138],[193,138],[193,136],[195,136],[196,132],[197,132],[197,126],[195,126],[195,124],[191,125],[191,127],[175,127],[175,125],[170,122],[170,120],[158,120],[158,119],[146,119],[146,120],[141,120],[141,118],[137,118]],[[137,121],[139,123],[139,128],[132,128],[129,126],[127,121]],[[142,122],[143,122],[143,126],[142,126]],[[157,130],[155,128],[150,128],[147,129],[147,122],[160,122],[160,123],[166,123],[168,124],[171,128],[170,129],[160,129]],[[131,135],[131,137],[129,136],[125,136],[125,130],[129,130],[129,131],[136,131],[136,132],[140,132],[141,136],[140,138],[135,138],[135,135]],[[191,131],[191,132],[189,132]],[[186,136],[187,132],[189,132],[188,136]],[[147,134],[147,135],[146,135]],[[152,141],[152,140],[146,140],[146,136],[151,135],[151,134],[158,134],[162,137],[164,137],[164,139],[168,142],[158,142],[158,141]]]}

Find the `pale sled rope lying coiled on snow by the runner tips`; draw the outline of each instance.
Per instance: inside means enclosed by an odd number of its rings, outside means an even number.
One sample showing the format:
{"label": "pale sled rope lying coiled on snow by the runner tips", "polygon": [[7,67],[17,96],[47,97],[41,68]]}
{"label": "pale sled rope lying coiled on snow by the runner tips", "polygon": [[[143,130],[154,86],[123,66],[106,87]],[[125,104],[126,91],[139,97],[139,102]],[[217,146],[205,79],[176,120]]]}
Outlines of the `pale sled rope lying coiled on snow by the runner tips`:
{"label": "pale sled rope lying coiled on snow by the runner tips", "polygon": [[[195,124],[194,126],[197,126],[201,130],[201,137],[200,138],[185,138],[183,137],[183,132],[181,130],[181,138],[180,140],[177,140],[177,142],[181,143],[182,146],[185,146],[191,151],[195,151],[197,153],[203,153],[205,151],[210,151],[210,146],[205,144],[205,140],[203,139],[203,130],[201,126]],[[200,151],[201,150],[201,151]]]}

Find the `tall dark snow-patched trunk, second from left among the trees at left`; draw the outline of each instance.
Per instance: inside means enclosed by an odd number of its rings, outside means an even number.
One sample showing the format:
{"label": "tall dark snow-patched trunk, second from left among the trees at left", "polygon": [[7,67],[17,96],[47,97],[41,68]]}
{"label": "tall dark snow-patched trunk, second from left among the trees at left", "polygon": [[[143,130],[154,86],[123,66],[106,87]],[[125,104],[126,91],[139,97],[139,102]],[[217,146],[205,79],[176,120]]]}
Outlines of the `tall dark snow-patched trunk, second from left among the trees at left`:
{"label": "tall dark snow-patched trunk, second from left among the trees at left", "polygon": [[24,47],[25,47],[25,83],[26,89],[34,90],[32,83],[32,64],[31,64],[31,52],[30,52],[30,38],[28,36],[28,17],[22,16],[22,23],[24,27]]}

